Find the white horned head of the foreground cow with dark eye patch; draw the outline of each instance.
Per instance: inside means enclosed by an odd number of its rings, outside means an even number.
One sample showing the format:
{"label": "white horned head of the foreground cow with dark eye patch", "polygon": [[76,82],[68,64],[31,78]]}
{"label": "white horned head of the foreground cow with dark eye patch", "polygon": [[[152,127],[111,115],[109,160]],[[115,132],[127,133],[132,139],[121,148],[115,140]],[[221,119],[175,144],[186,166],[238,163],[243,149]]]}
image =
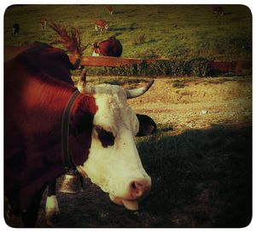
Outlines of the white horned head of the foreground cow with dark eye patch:
{"label": "white horned head of the foreground cow with dark eye patch", "polygon": [[[145,93],[152,83],[134,90],[108,84],[88,87],[84,81],[78,85],[80,92],[93,94],[98,107],[90,154],[84,164],[77,167],[78,171],[107,192],[113,202],[131,210],[136,210],[137,201],[148,194],[151,179],[134,142],[134,136],[143,134],[139,132],[141,117],[132,111],[127,99]],[[151,128],[147,134],[154,130]]]}

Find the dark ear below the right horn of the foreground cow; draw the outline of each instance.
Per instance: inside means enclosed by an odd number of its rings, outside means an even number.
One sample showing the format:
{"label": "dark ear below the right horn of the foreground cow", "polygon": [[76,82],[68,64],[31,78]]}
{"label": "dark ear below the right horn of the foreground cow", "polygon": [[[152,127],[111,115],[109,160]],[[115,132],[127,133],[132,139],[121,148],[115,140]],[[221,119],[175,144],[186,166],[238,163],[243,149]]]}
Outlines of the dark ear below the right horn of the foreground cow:
{"label": "dark ear below the right horn of the foreground cow", "polygon": [[137,137],[148,136],[156,131],[156,124],[151,117],[147,115],[137,114],[137,119],[140,123]]}

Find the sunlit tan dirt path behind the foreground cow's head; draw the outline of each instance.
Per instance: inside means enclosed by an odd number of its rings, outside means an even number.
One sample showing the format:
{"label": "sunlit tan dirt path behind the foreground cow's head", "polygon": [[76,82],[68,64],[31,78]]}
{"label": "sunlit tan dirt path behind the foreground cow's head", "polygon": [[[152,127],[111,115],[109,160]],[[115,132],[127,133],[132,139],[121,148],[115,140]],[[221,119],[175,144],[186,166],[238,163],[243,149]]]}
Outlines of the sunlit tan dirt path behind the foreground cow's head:
{"label": "sunlit tan dirt path behind the foreground cow's head", "polygon": [[[178,83],[175,84],[175,83]],[[180,86],[175,88],[173,86]],[[145,113],[174,130],[210,128],[216,124],[249,124],[252,119],[250,77],[156,79],[147,94],[131,99]]]}

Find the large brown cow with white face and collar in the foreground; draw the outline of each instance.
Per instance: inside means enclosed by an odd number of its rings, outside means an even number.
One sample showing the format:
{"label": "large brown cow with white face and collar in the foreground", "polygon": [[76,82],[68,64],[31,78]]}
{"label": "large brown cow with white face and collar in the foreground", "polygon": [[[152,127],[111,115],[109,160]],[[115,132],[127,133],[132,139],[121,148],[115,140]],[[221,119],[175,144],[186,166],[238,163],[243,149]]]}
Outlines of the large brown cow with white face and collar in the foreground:
{"label": "large brown cow with white face and collar in the foreground", "polygon": [[[61,26],[52,28],[77,57],[74,64],[63,50],[44,43],[4,64],[4,194],[25,226],[34,226],[45,187],[66,168],[76,168],[113,202],[137,209],[151,179],[133,136],[152,134],[155,125],[137,117],[126,99],[144,94],[153,82],[132,90],[88,86],[83,71],[74,88],[70,69],[80,65],[79,32],[68,36]],[[143,124],[152,130],[140,132]],[[55,200],[47,201],[49,215],[58,211]]]}

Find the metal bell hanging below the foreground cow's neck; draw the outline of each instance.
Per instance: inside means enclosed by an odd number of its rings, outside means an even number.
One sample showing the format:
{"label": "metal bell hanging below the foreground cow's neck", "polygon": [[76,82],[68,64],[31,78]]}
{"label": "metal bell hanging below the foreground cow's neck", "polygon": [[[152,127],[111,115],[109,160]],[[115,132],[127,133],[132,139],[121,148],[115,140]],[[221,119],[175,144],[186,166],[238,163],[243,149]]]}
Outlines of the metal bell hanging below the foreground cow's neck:
{"label": "metal bell hanging below the foreground cow's neck", "polygon": [[60,191],[63,193],[78,193],[83,190],[83,183],[77,170],[69,169],[64,175]]}

